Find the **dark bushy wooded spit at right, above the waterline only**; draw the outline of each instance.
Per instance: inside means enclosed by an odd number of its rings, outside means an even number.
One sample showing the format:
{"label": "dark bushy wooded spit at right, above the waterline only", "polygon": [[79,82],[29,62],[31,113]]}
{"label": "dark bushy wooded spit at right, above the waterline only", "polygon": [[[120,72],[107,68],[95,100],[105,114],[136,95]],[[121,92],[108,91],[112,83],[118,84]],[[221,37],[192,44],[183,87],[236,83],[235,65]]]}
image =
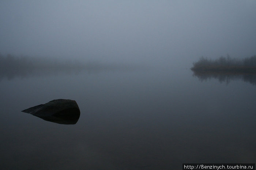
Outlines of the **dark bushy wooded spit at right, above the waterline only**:
{"label": "dark bushy wooded spit at right, above the waterline only", "polygon": [[201,57],[199,61],[193,63],[191,70],[256,73],[256,55],[245,59],[234,59],[230,58],[229,55],[221,56],[216,60]]}

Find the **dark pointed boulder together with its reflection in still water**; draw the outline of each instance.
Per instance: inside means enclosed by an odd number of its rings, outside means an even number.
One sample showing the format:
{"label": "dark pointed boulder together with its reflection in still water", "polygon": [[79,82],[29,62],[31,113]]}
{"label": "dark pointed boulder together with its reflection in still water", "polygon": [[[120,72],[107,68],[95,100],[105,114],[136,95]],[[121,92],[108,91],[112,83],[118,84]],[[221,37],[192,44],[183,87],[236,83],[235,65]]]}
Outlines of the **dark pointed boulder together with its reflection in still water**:
{"label": "dark pointed boulder together with its reflection in still water", "polygon": [[57,99],[22,110],[44,120],[59,124],[76,124],[80,110],[75,100]]}

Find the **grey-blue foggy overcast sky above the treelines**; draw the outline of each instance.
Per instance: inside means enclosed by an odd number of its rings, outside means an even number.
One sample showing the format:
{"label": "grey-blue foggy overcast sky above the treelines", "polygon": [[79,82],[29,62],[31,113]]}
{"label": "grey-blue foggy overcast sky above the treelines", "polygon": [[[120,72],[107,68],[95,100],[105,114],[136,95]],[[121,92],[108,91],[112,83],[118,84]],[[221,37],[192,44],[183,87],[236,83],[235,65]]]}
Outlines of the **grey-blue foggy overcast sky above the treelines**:
{"label": "grey-blue foggy overcast sky above the treelines", "polygon": [[192,63],[256,55],[255,0],[1,0],[2,55]]}

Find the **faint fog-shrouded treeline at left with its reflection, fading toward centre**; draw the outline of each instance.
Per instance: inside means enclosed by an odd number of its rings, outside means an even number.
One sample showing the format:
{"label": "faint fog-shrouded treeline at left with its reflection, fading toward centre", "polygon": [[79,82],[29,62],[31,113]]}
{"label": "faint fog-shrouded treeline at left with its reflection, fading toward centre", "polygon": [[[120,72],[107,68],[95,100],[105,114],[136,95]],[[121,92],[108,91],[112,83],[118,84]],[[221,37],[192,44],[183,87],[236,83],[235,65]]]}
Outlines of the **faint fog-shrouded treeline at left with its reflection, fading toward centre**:
{"label": "faint fog-shrouded treeline at left with its reflection, fading toward centre", "polygon": [[79,60],[39,58],[30,56],[14,56],[0,54],[0,81],[3,78],[26,77],[29,75],[49,75],[59,73],[78,73],[86,71],[95,73],[113,70],[135,70],[139,65],[85,62]]}

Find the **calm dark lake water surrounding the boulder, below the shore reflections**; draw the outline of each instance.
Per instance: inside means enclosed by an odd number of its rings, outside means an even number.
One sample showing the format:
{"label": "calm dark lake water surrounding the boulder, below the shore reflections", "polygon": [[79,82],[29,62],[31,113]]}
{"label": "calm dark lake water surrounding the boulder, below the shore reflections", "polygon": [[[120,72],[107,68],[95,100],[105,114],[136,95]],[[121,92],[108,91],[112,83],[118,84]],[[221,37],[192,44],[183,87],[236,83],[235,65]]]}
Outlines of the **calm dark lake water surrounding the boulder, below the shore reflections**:
{"label": "calm dark lake water surrounding the boulder, below the shore reflections", "polygon": [[[75,125],[22,110],[76,100]],[[181,169],[255,163],[256,86],[190,70],[73,72],[0,81],[0,169]]]}

